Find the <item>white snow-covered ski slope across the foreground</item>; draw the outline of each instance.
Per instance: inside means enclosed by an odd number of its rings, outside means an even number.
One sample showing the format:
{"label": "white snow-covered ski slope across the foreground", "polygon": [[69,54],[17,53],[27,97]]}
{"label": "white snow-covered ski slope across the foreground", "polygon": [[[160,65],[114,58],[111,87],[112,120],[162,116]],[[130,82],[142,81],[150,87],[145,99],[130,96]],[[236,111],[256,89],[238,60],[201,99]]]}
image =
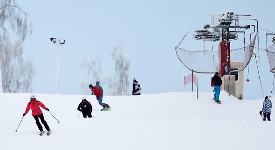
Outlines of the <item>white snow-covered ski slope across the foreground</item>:
{"label": "white snow-covered ski slope across the foreground", "polygon": [[[275,124],[262,121],[262,99],[238,100],[221,92],[176,92],[140,96],[35,94],[55,118],[43,110],[50,136],[39,136],[31,111],[15,132],[30,93],[0,94],[0,149],[274,149]],[[77,106],[86,96],[95,118],[79,118]],[[272,98],[271,98],[272,100]],[[272,100],[273,101],[273,100]],[[271,109],[272,110],[272,109]],[[271,120],[275,116],[271,115]]]}

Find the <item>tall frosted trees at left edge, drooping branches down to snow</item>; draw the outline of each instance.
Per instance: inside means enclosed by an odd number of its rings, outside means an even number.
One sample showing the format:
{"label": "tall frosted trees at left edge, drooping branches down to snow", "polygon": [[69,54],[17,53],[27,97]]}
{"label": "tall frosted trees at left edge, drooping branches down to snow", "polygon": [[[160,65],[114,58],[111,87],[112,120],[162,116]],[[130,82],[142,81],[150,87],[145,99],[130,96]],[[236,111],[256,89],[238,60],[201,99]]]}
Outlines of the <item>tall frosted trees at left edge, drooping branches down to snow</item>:
{"label": "tall frosted trees at left edge, drooping branches down to snow", "polygon": [[[29,60],[24,62],[22,42],[32,25],[15,0],[0,0],[0,92],[30,92],[35,71]],[[9,32],[16,33],[10,42]]]}

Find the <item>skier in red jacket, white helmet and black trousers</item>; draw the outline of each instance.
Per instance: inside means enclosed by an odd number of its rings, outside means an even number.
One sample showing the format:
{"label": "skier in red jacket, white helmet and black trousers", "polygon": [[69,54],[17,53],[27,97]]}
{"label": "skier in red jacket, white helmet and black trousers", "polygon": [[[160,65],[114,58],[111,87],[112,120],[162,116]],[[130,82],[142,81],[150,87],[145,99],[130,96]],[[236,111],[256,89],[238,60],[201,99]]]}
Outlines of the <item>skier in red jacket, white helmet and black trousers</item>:
{"label": "skier in red jacket, white helmet and black trousers", "polygon": [[42,127],[42,125],[39,121],[39,118],[41,119],[41,122],[44,124],[46,130],[50,133],[49,126],[48,126],[47,122],[44,119],[44,115],[43,115],[42,110],[40,109],[40,106],[43,109],[49,111],[49,109],[41,101],[36,100],[35,95],[31,95],[30,96],[30,102],[27,103],[26,111],[23,114],[23,116],[25,116],[28,113],[29,109],[31,109],[31,111],[32,111],[31,114],[34,117],[34,119],[36,121],[36,124],[37,124],[39,130],[41,131],[41,133],[44,133],[44,131],[43,131],[43,127]]}

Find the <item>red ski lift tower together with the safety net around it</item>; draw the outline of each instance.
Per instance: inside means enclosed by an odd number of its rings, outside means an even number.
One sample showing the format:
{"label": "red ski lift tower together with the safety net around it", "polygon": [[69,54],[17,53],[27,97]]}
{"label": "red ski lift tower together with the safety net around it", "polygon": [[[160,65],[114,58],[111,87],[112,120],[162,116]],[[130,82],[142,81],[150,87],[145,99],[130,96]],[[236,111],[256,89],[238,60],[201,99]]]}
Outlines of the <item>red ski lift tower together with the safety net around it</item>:
{"label": "red ski lift tower together with the safety net around it", "polygon": [[[253,18],[239,18],[239,16],[251,16],[250,14],[234,14],[234,12],[227,12],[224,14],[205,14],[211,16],[211,24],[204,26],[205,30],[197,30],[193,35],[193,38],[196,40],[204,41],[204,57],[208,58],[209,51],[205,51],[205,41],[219,41],[218,51],[212,51],[213,55],[213,65],[207,60],[201,61],[198,55],[202,55],[202,51],[188,51],[189,56],[185,55],[187,50],[180,48],[179,45],[182,43],[183,39],[186,37],[186,34],[181,42],[176,47],[177,56],[180,61],[190,70],[194,70],[197,73],[213,73],[219,72],[219,76],[223,80],[222,90],[227,91],[230,95],[233,95],[239,99],[243,98],[243,70],[249,64],[249,61],[252,57],[253,48],[255,39],[251,42],[251,34],[255,32],[255,25],[239,25],[240,19],[253,19]],[[213,18],[213,19],[212,19]],[[212,21],[213,20],[213,21]],[[253,19],[256,20],[256,19]],[[251,26],[254,27],[254,32],[250,34],[250,45],[245,46],[245,31],[239,31],[248,29]],[[258,25],[257,25],[258,26]],[[234,49],[231,51],[230,41],[238,39],[238,34],[244,34],[244,47],[239,49]],[[256,34],[257,35],[257,34]],[[256,36],[255,36],[256,37]],[[244,49],[244,50],[243,50]],[[242,51],[241,51],[242,50]],[[185,51],[185,52],[184,52]],[[217,52],[217,61],[218,65],[215,65],[214,54]],[[190,56],[192,54],[192,56]],[[231,55],[235,62],[231,62]],[[239,55],[243,55],[242,58]],[[192,57],[191,61],[196,61],[196,65],[189,63],[188,57]],[[238,58],[236,58],[238,57]],[[198,60],[196,60],[198,59]],[[203,66],[203,67],[202,67]],[[213,70],[208,69],[208,66],[213,66]],[[230,79],[231,78],[231,79]],[[247,79],[248,80],[248,79]]]}

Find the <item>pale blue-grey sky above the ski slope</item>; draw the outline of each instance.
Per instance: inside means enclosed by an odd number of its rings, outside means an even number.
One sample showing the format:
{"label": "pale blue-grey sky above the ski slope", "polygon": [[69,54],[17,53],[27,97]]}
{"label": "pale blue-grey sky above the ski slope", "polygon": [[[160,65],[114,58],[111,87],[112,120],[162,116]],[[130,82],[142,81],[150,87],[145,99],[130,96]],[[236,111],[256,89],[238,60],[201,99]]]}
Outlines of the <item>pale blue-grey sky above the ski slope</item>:
{"label": "pale blue-grey sky above the ski slope", "polygon": [[[86,93],[80,82],[89,84],[92,79],[87,78],[87,70],[80,65],[94,54],[101,60],[103,78],[114,75],[110,53],[118,45],[123,46],[130,61],[129,93],[133,78],[140,83],[141,93],[163,93],[183,91],[183,76],[191,71],[179,61],[175,47],[188,31],[201,30],[210,24],[210,16],[202,14],[227,11],[251,14],[259,21],[261,49],[266,48],[265,30],[275,31],[271,13],[274,1],[231,0],[226,4],[220,0],[17,0],[17,3],[30,15],[33,24],[33,33],[23,47],[26,58],[32,58],[37,69],[35,93],[56,93],[56,76],[52,74],[57,71],[57,46],[50,42],[50,37],[66,40],[60,47],[60,94]],[[240,21],[240,25],[247,24],[256,25],[255,21]],[[269,95],[274,74],[270,73],[266,52],[260,51],[260,56],[260,78],[264,95]],[[255,59],[252,61],[244,97],[255,99],[262,97],[262,92]],[[247,72],[246,69],[244,80]],[[195,75],[199,91],[212,90],[213,74]],[[106,82],[102,86],[108,91]],[[186,88],[191,91],[191,85]]]}

